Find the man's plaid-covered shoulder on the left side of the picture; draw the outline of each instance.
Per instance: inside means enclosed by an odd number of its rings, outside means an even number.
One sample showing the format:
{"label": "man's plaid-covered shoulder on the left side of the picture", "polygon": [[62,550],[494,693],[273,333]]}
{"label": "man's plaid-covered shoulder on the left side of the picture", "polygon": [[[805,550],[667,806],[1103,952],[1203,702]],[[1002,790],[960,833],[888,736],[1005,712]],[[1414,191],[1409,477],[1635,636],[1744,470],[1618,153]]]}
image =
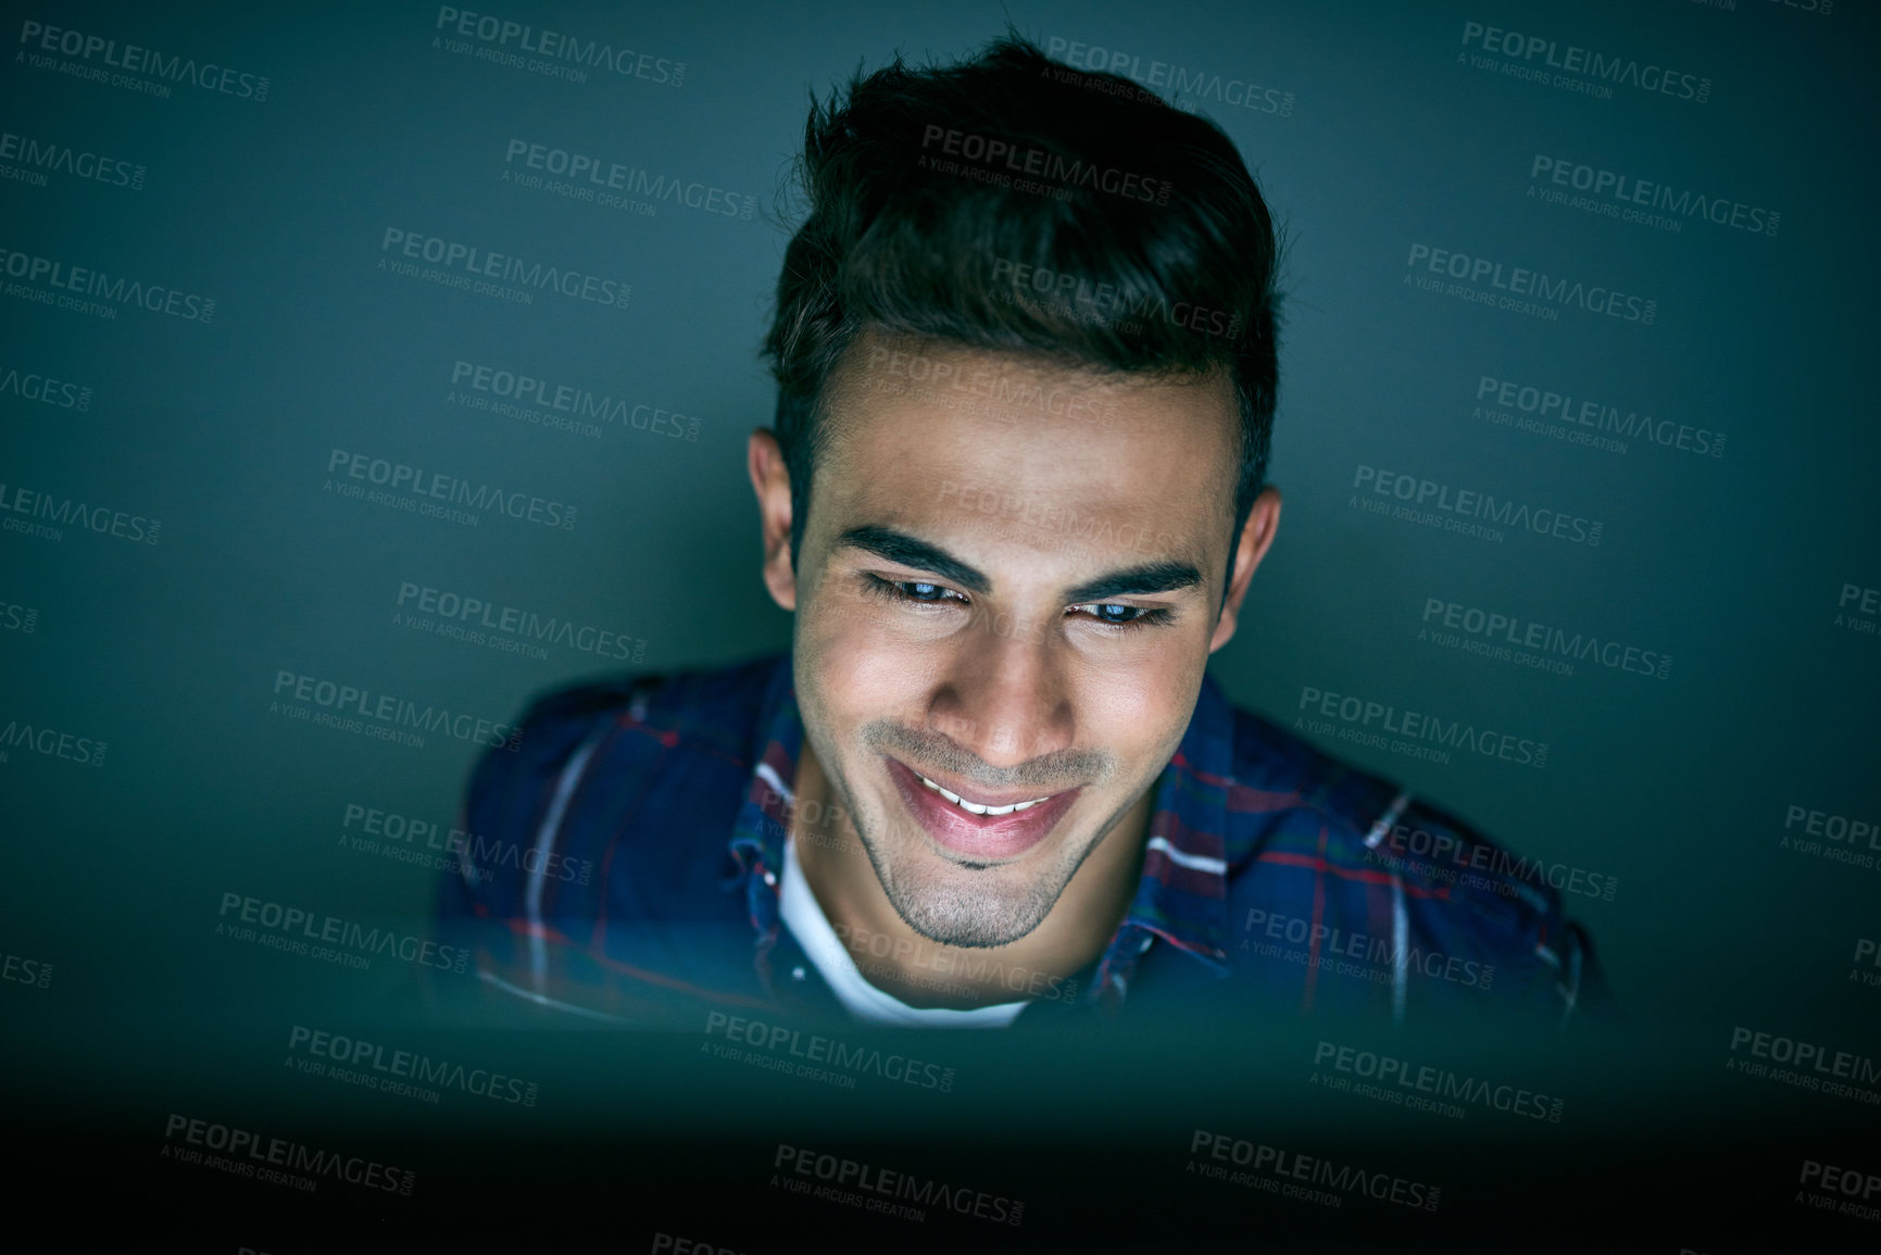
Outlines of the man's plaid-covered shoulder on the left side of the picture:
{"label": "man's plaid-covered shoulder on the left side of the picture", "polygon": [[726,890],[730,837],[788,679],[788,657],[771,657],[530,700],[519,736],[470,773],[440,937],[493,988],[604,1018],[658,1018],[677,992],[749,980],[724,961],[751,946]]}

